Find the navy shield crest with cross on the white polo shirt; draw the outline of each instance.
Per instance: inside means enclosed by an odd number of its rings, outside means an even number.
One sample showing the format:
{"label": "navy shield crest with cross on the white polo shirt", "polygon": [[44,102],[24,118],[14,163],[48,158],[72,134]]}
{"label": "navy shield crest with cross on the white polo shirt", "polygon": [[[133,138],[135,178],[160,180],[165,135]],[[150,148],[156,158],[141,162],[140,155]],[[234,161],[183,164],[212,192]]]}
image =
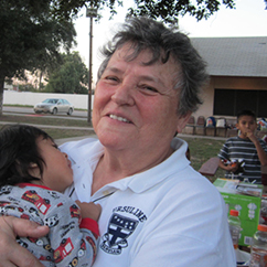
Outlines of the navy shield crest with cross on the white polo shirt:
{"label": "navy shield crest with cross on the white polo shirt", "polygon": [[121,254],[122,248],[128,246],[127,238],[134,233],[138,221],[114,213],[107,233],[103,236],[100,248],[113,255]]}

